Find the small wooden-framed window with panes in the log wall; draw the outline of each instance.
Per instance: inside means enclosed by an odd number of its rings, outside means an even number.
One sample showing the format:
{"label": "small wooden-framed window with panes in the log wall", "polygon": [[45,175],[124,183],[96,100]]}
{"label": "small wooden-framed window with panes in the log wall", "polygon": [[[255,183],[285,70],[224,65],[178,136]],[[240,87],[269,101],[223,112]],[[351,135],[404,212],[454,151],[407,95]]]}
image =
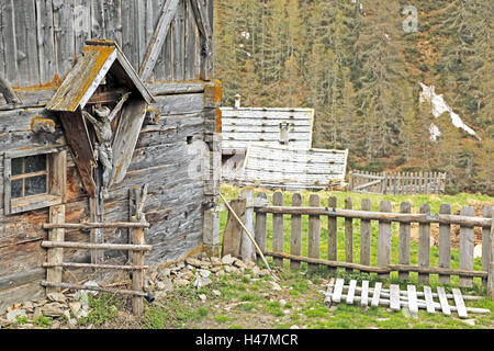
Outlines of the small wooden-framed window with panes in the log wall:
{"label": "small wooden-framed window with panes in the log wall", "polygon": [[4,213],[59,205],[65,196],[66,151],[5,155]]}

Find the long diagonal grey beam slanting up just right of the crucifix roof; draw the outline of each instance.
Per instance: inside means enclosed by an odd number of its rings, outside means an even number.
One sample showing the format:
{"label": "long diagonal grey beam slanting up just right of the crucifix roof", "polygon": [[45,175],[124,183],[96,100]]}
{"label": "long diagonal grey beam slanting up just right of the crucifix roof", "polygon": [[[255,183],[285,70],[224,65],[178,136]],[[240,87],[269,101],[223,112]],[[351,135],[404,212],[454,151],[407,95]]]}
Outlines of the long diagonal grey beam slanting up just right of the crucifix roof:
{"label": "long diagonal grey beam slanting up just right of the crucifix roof", "polygon": [[179,0],[167,0],[161,10],[158,25],[156,26],[155,33],[149,42],[146,55],[144,56],[143,65],[139,69],[139,77],[144,82],[149,80],[149,77],[155,69],[156,61],[161,54],[162,44],[167,38],[171,21],[176,15],[178,3]]}

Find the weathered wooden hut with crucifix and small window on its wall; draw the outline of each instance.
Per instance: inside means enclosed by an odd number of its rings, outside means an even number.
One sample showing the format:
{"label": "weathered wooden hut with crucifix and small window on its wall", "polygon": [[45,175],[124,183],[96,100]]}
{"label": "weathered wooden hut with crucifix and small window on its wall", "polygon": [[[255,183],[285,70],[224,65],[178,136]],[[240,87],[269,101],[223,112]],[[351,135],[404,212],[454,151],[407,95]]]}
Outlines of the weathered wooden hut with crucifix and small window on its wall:
{"label": "weathered wooden hut with crucifix and small window on its wall", "polygon": [[[212,0],[0,0],[0,309],[45,293],[50,217],[130,223],[136,186],[146,263],[217,251],[212,23]],[[130,230],[65,240],[128,244]],[[69,262],[125,259],[64,249]]]}

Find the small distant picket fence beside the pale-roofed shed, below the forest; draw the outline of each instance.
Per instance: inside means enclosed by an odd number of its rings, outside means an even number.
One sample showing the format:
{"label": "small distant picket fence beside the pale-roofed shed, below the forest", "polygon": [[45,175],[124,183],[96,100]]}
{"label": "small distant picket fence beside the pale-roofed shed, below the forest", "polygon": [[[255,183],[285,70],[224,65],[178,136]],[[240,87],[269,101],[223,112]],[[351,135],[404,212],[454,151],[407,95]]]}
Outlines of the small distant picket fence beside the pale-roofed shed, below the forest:
{"label": "small distant picket fence beside the pale-roofed shed, below the forest", "polygon": [[350,172],[348,190],[369,194],[442,194],[446,173],[439,172]]}

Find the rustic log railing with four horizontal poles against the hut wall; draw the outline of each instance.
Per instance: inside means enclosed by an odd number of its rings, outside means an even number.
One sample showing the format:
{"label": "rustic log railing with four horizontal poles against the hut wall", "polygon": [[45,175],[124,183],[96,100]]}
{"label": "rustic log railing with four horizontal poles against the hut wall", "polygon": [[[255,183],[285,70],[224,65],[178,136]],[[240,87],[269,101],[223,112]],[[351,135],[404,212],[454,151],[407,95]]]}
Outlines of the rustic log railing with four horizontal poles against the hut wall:
{"label": "rustic log railing with four horizontal poles against the hut wall", "polygon": [[[137,190],[133,189],[133,193]],[[144,196],[145,197],[145,196]],[[139,199],[141,200],[141,199]],[[144,199],[145,200],[145,199]],[[144,292],[144,271],[149,267],[144,264],[144,254],[153,249],[151,246],[145,245],[144,229],[149,228],[149,224],[144,220],[142,215],[142,207],[144,200],[141,202],[141,206],[136,208],[134,213],[137,215],[132,216],[130,223],[65,223],[65,205],[50,207],[49,219],[50,223],[43,225],[44,229],[48,230],[48,241],[43,241],[42,247],[48,249],[47,262],[43,264],[46,268],[46,281],[43,281],[42,286],[46,287],[46,292],[59,292],[61,288],[70,290],[91,290],[98,292],[106,292],[112,294],[131,295],[132,309],[134,315],[141,316],[144,312],[143,297],[147,296]],[[138,202],[137,202],[138,204]],[[139,215],[141,214],[141,215]],[[93,244],[93,242],[68,242],[64,241],[65,229],[79,229],[88,231],[90,229],[100,228],[130,228],[131,229],[131,244]],[[117,264],[100,264],[100,263],[75,263],[64,262],[64,249],[78,249],[78,250],[115,250],[115,251],[128,251],[132,252],[132,264],[117,265]],[[132,290],[121,290],[101,286],[83,286],[78,284],[63,283],[63,269],[93,269],[93,270],[121,270],[132,271]]]}

